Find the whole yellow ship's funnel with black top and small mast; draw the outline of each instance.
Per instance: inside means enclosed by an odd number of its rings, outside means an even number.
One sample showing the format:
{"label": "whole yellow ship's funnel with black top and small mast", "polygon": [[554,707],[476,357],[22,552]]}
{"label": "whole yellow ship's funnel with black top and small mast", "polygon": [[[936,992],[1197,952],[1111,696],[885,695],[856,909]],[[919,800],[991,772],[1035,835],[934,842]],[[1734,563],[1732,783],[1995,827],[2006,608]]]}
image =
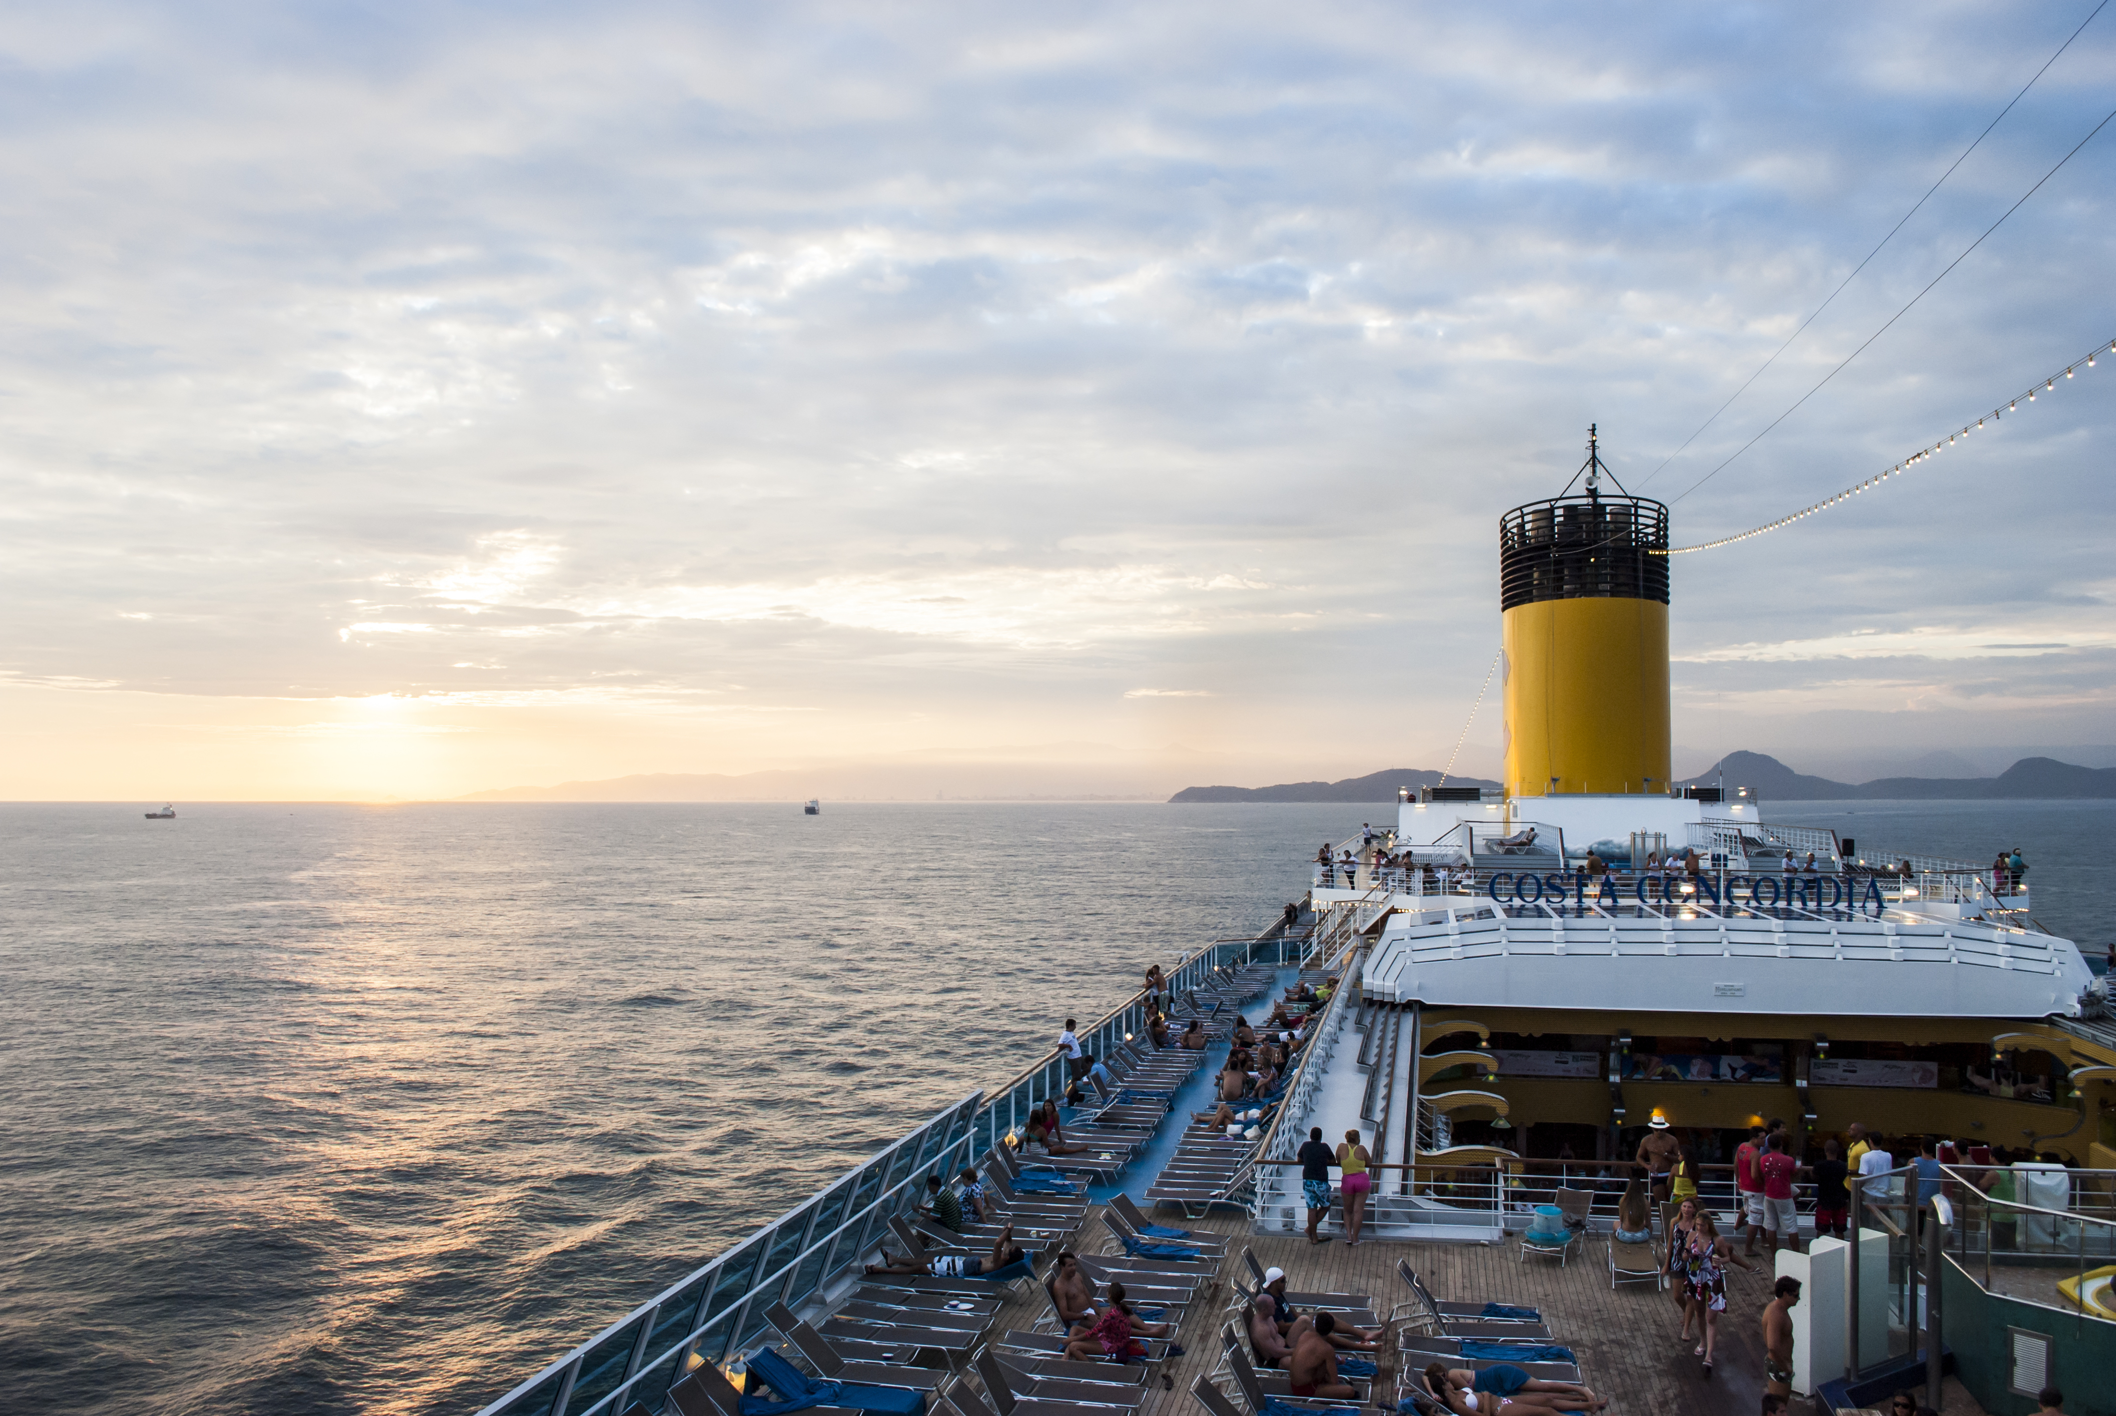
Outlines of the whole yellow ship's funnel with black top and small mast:
{"label": "whole yellow ship's funnel with black top and small mast", "polygon": [[1581,472],[1498,521],[1507,792],[1667,792],[1667,506]]}

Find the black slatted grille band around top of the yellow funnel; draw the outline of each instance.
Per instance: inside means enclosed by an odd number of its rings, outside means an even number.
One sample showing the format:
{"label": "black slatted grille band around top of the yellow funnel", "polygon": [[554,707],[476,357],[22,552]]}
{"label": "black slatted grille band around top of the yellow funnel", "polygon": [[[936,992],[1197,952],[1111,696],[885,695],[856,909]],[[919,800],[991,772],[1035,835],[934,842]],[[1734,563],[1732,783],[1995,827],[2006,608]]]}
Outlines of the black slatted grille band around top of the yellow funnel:
{"label": "black slatted grille band around top of the yellow funnel", "polygon": [[1515,506],[1498,519],[1498,607],[1589,597],[1665,605],[1665,552],[1661,502],[1587,495]]}

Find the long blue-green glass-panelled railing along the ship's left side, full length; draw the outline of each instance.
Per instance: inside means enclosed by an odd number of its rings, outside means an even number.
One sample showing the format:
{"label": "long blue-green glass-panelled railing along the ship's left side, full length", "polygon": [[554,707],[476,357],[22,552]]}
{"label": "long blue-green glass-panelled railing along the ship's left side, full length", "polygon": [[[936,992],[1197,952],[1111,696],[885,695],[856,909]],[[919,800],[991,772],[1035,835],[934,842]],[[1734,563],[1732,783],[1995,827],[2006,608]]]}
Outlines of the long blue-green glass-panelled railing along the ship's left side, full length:
{"label": "long blue-green glass-panelled railing along the ship's left side, full length", "polygon": [[[1166,974],[1176,997],[1227,969],[1299,959],[1301,931],[1274,925],[1257,938],[1212,940]],[[1105,1056],[1145,1031],[1147,991],[1138,988],[1090,1027],[1075,1029],[1086,1052]],[[482,1408],[478,1416],[612,1416],[643,1401],[658,1410],[690,1363],[719,1363],[766,1329],[774,1302],[800,1308],[861,1264],[889,1219],[916,1209],[929,1173],[952,1175],[1028,1122],[1028,1111],[1062,1096],[1066,1054],[1052,1048],[999,1090],[931,1118],[901,1141],[853,1166],[836,1183],[692,1270],[647,1304],[550,1363]]]}

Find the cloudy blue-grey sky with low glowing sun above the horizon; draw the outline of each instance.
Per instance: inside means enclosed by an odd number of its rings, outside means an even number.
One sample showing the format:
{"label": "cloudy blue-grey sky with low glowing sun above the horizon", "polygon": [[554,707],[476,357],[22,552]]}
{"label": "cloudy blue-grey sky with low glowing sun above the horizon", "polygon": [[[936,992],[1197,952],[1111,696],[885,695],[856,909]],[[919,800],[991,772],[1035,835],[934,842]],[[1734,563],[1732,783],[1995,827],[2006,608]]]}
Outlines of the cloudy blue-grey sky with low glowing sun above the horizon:
{"label": "cloudy blue-grey sky with low glowing sun above the horizon", "polygon": [[[0,794],[1437,766],[1589,421],[1705,540],[2116,334],[2110,125],[1689,491],[2110,13],[1663,466],[2091,11],[15,6]],[[1680,773],[2116,741],[2116,364],[2021,409],[1676,563]]]}

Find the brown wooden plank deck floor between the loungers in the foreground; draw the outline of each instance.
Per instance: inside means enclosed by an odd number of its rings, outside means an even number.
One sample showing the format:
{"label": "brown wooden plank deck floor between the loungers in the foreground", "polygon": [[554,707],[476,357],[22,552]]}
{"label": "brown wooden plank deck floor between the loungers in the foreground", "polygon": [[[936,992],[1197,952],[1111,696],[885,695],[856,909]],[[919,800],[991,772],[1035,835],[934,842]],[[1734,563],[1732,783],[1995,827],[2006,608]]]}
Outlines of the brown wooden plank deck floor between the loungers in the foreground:
{"label": "brown wooden plank deck floor between the loungers in the foreground", "polygon": [[[1758,1266],[1756,1272],[1733,1272],[1727,1312],[1720,1317],[1714,1374],[1705,1378],[1699,1359],[1691,1355],[1691,1344],[1676,1342],[1682,1317],[1674,1300],[1646,1283],[1627,1283],[1610,1291],[1604,1249],[1595,1238],[1583,1240],[1581,1251],[1559,1268],[1540,1257],[1526,1266],[1517,1264],[1511,1242],[1500,1247],[1365,1240],[1352,1249],[1344,1240],[1310,1245],[1299,1234],[1293,1238],[1248,1234],[1248,1221],[1242,1215],[1215,1215],[1210,1219],[1157,1215],[1157,1219],[1193,1230],[1217,1230],[1234,1236],[1236,1245],[1221,1266],[1210,1295],[1193,1304],[1185,1317],[1181,1342],[1187,1353],[1168,1367],[1174,1391],[1155,1382],[1143,1416],[1200,1416],[1189,1386],[1219,1363],[1217,1329],[1232,1295],[1229,1278],[1242,1261],[1242,1242],[1257,1251],[1259,1264],[1284,1268],[1291,1287],[1369,1293],[1375,1312],[1382,1314],[1407,1297],[1397,1276],[1399,1257],[1407,1257],[1433,1295],[1443,1302],[1498,1300],[1540,1308],[1553,1338],[1579,1353],[1587,1384],[1610,1399],[1610,1412],[1754,1416],[1761,1410],[1763,1338],[1758,1325],[1771,1297],[1767,1266]],[[1100,1251],[1102,1245],[1094,1238],[1100,1232],[1100,1221],[1090,1213],[1088,1228],[1081,1230],[1086,1249]],[[1045,1310],[1041,1295],[1035,1302],[1016,1295],[1001,1312],[997,1327],[1028,1327]],[[1388,1346],[1392,1346],[1392,1333]],[[1384,1350],[1375,1399],[1388,1403],[1386,1410],[1392,1410],[1394,1378],[1394,1353]],[[1953,1397],[1949,1416],[1976,1416],[1978,1408],[1959,1388]],[[1805,1399],[1792,1401],[1794,1416],[1807,1416],[1811,1410]]]}

